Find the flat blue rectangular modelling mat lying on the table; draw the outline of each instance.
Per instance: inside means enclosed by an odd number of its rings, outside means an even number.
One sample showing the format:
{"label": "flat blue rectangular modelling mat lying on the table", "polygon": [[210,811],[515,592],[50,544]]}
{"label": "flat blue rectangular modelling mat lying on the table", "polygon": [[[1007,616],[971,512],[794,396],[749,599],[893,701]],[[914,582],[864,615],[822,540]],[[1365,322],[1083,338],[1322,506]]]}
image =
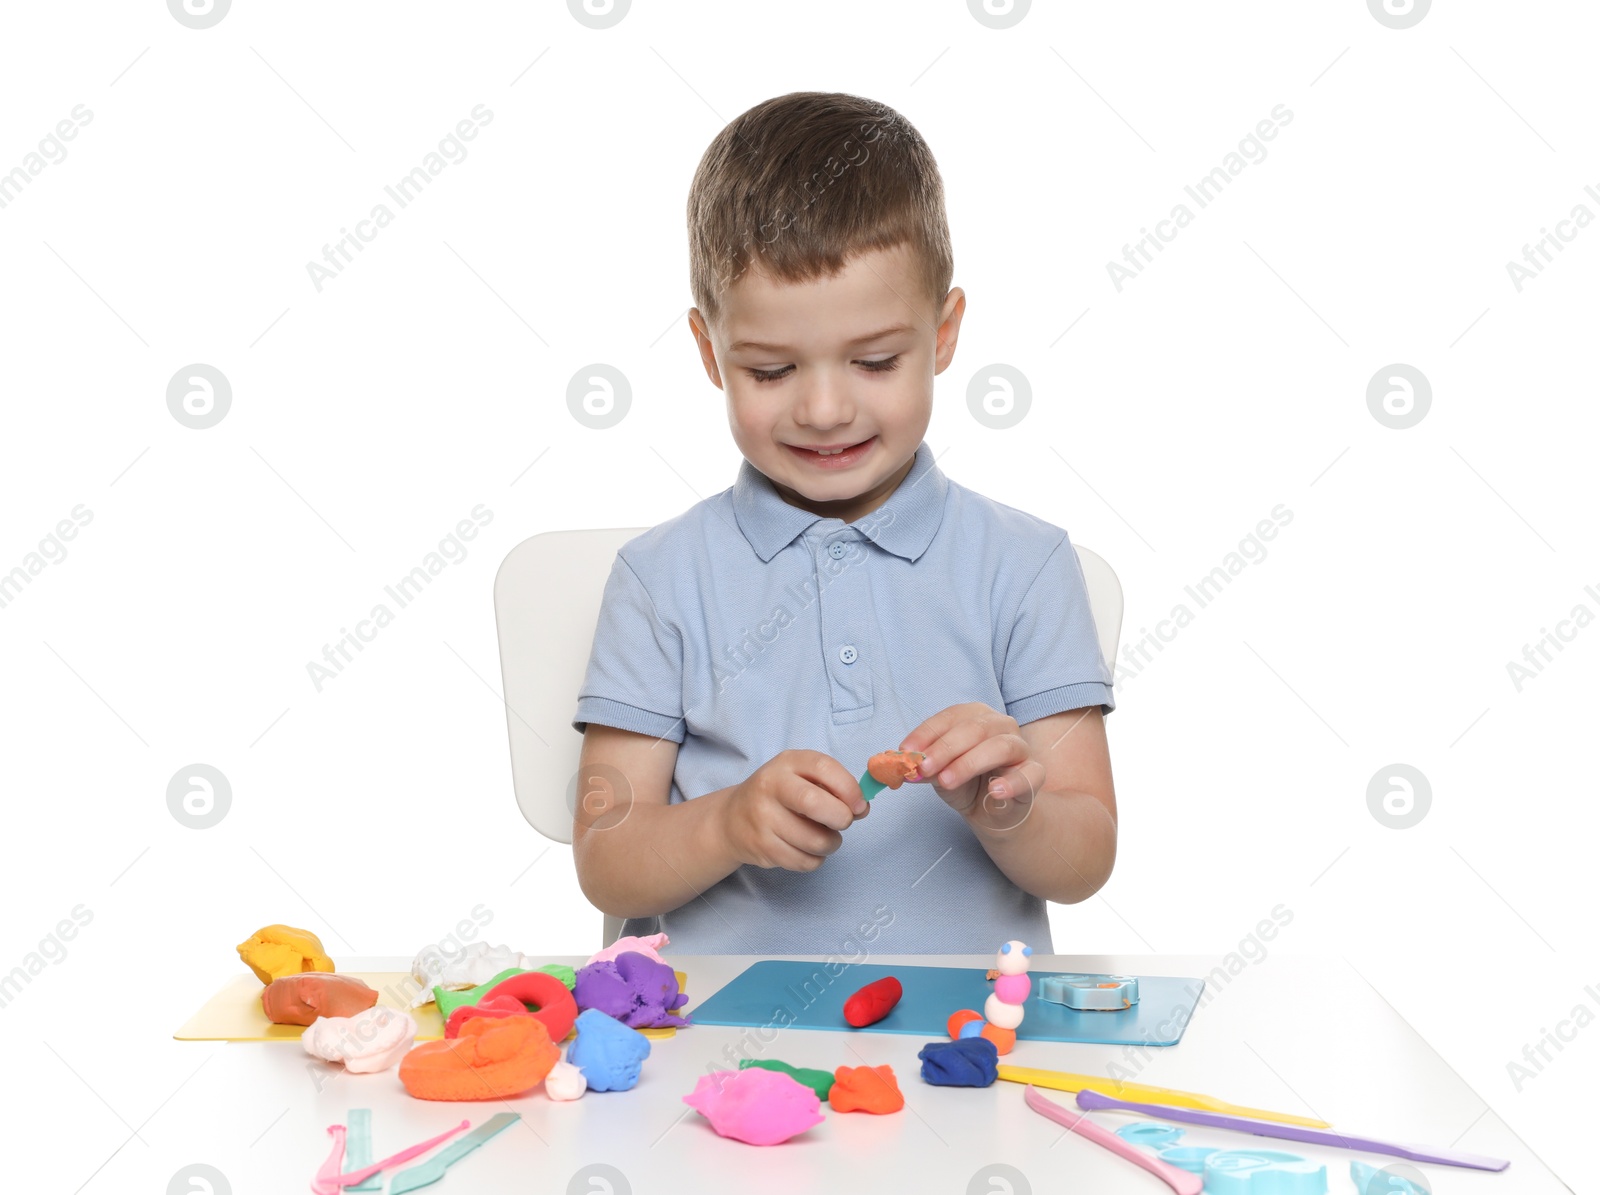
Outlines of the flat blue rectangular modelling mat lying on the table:
{"label": "flat blue rectangular modelling mat lying on the table", "polygon": [[[843,968],[838,974],[834,969]],[[1139,1003],[1115,1013],[1083,1013],[1038,998],[1038,981],[1067,971],[1032,971],[1034,995],[1024,1006],[1018,1041],[1085,1041],[1106,1046],[1176,1046],[1205,990],[1203,979],[1139,976]],[[883,1021],[853,1030],[845,1001],[883,976],[901,981],[904,995]],[[698,1025],[752,1029],[834,1029],[862,1033],[912,1033],[947,1040],[946,1022],[958,1008],[979,1016],[994,984],[976,966],[882,966],[867,963],[797,963],[766,958],[750,963],[702,1005],[690,1006]]]}

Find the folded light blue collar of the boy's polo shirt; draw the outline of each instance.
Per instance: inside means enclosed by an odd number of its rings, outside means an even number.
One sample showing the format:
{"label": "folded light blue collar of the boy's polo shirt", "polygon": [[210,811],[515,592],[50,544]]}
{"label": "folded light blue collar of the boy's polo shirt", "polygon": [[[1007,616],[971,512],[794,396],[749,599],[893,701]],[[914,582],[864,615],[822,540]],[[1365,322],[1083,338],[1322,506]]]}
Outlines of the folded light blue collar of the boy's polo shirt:
{"label": "folded light blue collar of the boy's polo shirt", "polygon": [[[890,494],[888,501],[850,526],[878,547],[906,560],[917,560],[933,542],[939,522],[944,518],[944,496],[949,478],[933,459],[933,450],[923,440],[917,445],[910,472]],[[749,461],[739,466],[739,480],[733,485],[733,514],[739,530],[750,541],[762,563],[794,542],[822,517],[797,506],[789,506],[766,474]]]}

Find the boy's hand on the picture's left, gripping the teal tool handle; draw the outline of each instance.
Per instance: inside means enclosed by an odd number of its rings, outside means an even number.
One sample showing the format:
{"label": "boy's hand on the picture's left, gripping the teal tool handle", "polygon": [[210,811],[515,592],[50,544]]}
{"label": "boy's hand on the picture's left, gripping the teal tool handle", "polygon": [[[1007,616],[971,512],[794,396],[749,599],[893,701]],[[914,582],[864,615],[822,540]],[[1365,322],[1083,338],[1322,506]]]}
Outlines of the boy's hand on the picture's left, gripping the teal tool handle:
{"label": "boy's hand on the picture's left, gripping the teal tool handle", "polygon": [[786,750],[736,784],[723,833],[741,864],[814,872],[872,806],[843,763],[819,750]]}

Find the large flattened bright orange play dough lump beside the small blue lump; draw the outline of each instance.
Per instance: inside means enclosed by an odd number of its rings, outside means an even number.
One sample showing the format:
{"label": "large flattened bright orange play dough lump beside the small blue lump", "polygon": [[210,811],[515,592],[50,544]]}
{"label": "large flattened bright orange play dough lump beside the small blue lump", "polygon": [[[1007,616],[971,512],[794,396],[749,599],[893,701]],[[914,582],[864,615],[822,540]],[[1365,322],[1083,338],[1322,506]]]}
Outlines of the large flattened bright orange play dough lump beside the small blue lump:
{"label": "large flattened bright orange play dough lump beside the small blue lump", "polygon": [[544,1022],[480,1016],[461,1037],[424,1041],[400,1059],[400,1081],[418,1099],[509,1099],[539,1083],[560,1057]]}

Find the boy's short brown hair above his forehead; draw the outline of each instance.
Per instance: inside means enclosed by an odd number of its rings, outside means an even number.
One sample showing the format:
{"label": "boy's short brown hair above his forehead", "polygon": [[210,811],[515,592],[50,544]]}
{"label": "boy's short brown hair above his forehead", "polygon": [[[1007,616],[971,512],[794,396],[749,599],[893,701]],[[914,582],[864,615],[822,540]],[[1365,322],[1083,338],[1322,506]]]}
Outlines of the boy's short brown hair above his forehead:
{"label": "boy's short brown hair above his forehead", "polygon": [[790,91],[730,122],[694,171],[688,219],[690,290],[709,322],[752,266],[814,282],[909,245],[934,306],[955,269],[933,152],[899,112],[846,93]]}

